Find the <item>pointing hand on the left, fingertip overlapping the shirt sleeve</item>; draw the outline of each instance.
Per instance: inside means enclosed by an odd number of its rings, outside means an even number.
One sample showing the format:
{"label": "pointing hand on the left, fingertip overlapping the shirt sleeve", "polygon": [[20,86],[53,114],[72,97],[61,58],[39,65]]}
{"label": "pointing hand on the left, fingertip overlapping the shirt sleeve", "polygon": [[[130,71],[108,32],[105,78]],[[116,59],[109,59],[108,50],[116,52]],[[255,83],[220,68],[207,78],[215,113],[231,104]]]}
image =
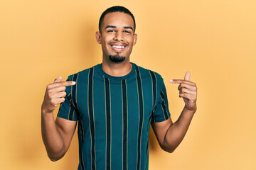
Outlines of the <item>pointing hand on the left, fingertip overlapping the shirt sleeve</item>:
{"label": "pointing hand on the left, fingertip overlapping the shirt sleeve", "polygon": [[65,101],[65,86],[73,86],[75,81],[61,81],[62,77],[55,79],[53,84],[46,86],[46,94],[42,103],[42,111],[44,113],[52,113],[59,103]]}

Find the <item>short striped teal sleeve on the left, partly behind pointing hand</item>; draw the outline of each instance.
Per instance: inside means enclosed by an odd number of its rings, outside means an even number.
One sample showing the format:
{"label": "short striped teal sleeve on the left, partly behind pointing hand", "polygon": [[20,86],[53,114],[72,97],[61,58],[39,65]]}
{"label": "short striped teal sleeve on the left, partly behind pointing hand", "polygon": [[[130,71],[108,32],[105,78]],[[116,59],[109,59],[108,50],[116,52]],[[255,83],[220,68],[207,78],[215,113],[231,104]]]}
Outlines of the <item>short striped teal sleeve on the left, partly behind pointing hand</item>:
{"label": "short striped teal sleeve on the left, partly behind pointing hand", "polygon": [[[74,75],[70,75],[66,81],[75,81]],[[73,98],[75,98],[75,90],[77,84],[73,86],[66,86],[65,92],[65,101],[60,103],[60,108],[58,110],[57,116],[67,120],[78,120],[78,109],[76,103],[74,103]]]}

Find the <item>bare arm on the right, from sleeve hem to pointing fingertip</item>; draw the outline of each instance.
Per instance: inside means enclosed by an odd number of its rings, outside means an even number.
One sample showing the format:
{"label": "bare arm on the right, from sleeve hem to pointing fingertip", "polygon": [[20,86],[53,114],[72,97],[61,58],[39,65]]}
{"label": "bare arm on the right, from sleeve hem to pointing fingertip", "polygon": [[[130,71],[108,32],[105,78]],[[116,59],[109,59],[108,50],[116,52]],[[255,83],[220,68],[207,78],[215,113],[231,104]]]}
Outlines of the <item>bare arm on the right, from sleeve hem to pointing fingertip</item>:
{"label": "bare arm on the right, from sleeve hem to pointing fingertip", "polygon": [[170,80],[171,83],[179,84],[179,97],[182,97],[185,102],[178,120],[172,123],[171,118],[169,118],[160,123],[151,123],[159,145],[166,152],[174,152],[176,147],[178,147],[186,135],[194,113],[196,113],[197,87],[189,79],[190,72],[187,72],[184,79]]}

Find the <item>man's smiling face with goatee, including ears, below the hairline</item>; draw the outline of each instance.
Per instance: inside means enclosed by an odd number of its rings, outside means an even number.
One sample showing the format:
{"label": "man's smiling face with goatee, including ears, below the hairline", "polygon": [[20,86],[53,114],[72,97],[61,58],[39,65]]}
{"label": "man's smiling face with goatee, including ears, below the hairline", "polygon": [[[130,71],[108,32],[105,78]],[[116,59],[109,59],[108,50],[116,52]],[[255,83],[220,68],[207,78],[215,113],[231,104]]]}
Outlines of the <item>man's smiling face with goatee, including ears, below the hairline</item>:
{"label": "man's smiling face with goatee, including ears, below the hairline", "polygon": [[96,32],[96,40],[102,45],[103,60],[129,61],[132,47],[137,41],[132,16],[120,12],[107,13],[102,22],[101,33]]}

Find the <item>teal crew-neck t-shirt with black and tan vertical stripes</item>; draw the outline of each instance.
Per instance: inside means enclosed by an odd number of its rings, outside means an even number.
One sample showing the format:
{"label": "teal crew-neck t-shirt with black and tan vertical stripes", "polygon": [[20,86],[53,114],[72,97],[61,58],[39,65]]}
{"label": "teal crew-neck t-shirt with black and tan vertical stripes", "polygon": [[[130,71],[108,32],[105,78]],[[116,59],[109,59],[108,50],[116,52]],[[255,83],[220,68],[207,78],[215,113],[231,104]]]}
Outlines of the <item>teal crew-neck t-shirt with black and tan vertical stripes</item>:
{"label": "teal crew-neck t-shirt with black and tan vertical stripes", "polygon": [[78,169],[148,169],[151,122],[170,117],[164,81],[132,63],[124,77],[101,64],[68,77],[58,117],[78,120]]}

